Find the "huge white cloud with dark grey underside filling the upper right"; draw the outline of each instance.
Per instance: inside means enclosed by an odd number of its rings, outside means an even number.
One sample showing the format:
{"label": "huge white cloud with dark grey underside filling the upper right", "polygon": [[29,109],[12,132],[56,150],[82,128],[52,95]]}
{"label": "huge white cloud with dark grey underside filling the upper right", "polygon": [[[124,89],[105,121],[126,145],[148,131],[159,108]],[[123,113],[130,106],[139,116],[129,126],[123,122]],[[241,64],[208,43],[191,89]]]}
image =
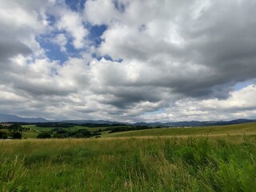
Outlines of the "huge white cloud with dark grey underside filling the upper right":
{"label": "huge white cloud with dark grey underside filling the upper right", "polygon": [[[158,86],[169,86],[193,97],[214,94],[218,86],[223,89],[223,93],[218,91],[219,97],[226,97],[226,84],[233,82],[233,86],[235,82],[254,78],[255,25],[248,28],[251,17],[246,14],[254,14],[253,5],[217,1],[198,10],[198,2],[183,6],[184,3],[130,2],[119,22],[110,24],[102,35],[104,41],[98,51],[114,59],[145,62],[154,72],[160,70],[162,77],[169,78],[160,80]],[[137,13],[146,16],[130,24],[134,21],[134,6]],[[179,9],[174,10],[175,14],[166,10],[176,6]],[[154,11],[149,11],[153,7]],[[105,20],[107,24],[108,18]],[[139,30],[142,25],[143,30]],[[156,82],[154,78],[150,81]]]}

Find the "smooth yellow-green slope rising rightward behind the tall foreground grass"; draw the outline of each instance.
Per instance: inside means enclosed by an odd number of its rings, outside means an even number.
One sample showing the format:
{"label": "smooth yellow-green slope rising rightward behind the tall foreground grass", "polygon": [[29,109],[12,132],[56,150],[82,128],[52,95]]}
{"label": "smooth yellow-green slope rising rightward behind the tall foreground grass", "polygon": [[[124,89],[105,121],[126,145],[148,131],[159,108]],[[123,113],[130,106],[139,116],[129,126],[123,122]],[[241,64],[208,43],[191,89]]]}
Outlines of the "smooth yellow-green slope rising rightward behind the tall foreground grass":
{"label": "smooth yellow-green slope rising rightward behind the tall foreground grass", "polygon": [[142,137],[142,136],[183,136],[183,135],[222,135],[222,134],[256,134],[256,123],[243,123],[231,126],[206,126],[193,128],[158,128],[150,130],[133,130],[105,134],[104,137]]}

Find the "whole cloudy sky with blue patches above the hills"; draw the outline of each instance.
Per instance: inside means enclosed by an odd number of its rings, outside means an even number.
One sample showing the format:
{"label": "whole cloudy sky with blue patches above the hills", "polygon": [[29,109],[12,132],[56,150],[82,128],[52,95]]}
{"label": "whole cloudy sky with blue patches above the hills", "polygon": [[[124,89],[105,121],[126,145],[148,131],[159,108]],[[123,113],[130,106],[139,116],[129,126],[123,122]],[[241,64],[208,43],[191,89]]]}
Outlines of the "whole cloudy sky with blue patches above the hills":
{"label": "whole cloudy sky with blue patches above the hills", "polygon": [[0,114],[256,119],[256,1],[0,0]]}

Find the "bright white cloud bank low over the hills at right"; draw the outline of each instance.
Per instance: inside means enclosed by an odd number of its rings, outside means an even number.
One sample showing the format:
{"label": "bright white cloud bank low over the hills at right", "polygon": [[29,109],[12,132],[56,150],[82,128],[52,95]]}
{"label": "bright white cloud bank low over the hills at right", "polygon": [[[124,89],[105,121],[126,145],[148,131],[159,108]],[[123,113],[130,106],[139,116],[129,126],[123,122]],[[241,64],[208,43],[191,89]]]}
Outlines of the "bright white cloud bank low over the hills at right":
{"label": "bright white cloud bank low over the hills at right", "polygon": [[[174,102],[159,114],[142,115],[150,121],[189,121],[189,120],[231,120],[234,118],[255,118],[256,102],[254,96],[256,86],[250,85],[242,90],[230,92],[226,99],[194,99],[184,98]],[[161,117],[161,118],[159,118]]]}

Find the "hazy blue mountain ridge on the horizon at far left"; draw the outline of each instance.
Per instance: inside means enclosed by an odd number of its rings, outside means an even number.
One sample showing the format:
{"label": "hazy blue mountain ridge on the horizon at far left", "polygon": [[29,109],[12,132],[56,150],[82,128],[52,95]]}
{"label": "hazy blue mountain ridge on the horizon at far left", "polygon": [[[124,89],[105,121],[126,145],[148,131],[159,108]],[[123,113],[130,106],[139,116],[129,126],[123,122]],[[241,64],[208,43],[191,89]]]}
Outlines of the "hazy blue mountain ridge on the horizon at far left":
{"label": "hazy blue mountain ridge on the horizon at far left", "polygon": [[45,118],[20,118],[13,114],[0,114],[0,122],[48,122]]}

